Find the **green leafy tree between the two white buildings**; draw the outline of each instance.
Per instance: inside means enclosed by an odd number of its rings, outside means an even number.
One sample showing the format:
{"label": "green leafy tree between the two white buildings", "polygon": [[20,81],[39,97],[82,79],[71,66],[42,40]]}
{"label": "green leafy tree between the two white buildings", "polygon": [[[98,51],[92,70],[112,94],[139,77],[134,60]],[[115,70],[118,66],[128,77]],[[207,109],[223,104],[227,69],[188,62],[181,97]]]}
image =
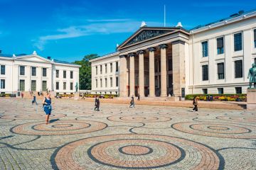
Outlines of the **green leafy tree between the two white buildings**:
{"label": "green leafy tree between the two white buildings", "polygon": [[81,61],[75,61],[75,64],[79,64],[82,67],[79,69],[79,81],[80,90],[90,90],[92,82],[92,69],[89,60],[99,57],[96,54],[85,55]]}

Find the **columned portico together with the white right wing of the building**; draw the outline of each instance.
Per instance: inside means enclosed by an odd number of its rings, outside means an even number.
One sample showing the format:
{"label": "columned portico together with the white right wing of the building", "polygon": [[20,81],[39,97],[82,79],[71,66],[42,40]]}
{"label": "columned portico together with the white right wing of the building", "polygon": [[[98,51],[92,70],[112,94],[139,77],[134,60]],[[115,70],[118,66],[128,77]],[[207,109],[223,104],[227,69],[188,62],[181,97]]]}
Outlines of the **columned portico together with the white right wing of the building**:
{"label": "columned portico together with the white right wing of the building", "polygon": [[119,96],[246,94],[248,69],[256,62],[256,11],[191,30],[180,23],[142,26],[117,51]]}

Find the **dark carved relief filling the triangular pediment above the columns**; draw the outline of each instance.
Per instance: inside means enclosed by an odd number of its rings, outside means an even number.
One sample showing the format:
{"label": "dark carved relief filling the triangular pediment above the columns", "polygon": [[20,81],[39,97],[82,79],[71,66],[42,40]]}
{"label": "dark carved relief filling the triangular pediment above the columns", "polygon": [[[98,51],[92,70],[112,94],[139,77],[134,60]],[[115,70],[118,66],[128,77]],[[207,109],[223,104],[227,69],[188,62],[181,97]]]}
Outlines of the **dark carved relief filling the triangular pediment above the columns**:
{"label": "dark carved relief filling the triangular pediment above the columns", "polygon": [[139,33],[139,35],[132,38],[132,40],[130,40],[127,43],[127,45],[132,45],[136,42],[140,42],[140,41],[143,41],[143,40],[154,38],[154,37],[157,37],[159,35],[163,35],[163,34],[170,33],[170,32],[171,32],[170,30],[143,30],[142,33]]}

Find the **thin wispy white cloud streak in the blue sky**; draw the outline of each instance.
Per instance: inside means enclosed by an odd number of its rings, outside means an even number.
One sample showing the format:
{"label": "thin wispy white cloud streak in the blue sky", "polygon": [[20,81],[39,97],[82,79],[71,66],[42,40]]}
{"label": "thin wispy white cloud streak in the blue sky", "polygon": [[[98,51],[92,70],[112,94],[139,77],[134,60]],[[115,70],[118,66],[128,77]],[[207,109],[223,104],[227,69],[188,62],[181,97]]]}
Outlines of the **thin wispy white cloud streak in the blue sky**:
{"label": "thin wispy white cloud streak in the blue sky", "polygon": [[[78,38],[93,34],[132,33],[139,29],[141,24],[139,21],[129,21],[127,19],[91,20],[91,22],[87,25],[58,29],[51,35],[43,35],[37,40],[33,40],[33,45],[38,47],[39,50],[43,50],[46,43],[50,40]],[[151,22],[148,25],[157,26],[159,23]]]}

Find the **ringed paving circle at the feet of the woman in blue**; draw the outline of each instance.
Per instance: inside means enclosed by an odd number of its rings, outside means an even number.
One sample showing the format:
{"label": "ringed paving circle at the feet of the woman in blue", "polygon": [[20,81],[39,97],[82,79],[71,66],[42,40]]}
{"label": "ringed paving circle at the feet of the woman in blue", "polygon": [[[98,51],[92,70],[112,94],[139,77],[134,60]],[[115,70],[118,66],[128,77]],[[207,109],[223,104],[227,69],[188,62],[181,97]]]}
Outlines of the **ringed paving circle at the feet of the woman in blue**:
{"label": "ringed paving circle at the feet of the woman in blue", "polygon": [[22,135],[73,135],[104,128],[107,128],[107,124],[96,121],[58,120],[48,125],[44,122],[25,123],[11,128],[11,132]]}

